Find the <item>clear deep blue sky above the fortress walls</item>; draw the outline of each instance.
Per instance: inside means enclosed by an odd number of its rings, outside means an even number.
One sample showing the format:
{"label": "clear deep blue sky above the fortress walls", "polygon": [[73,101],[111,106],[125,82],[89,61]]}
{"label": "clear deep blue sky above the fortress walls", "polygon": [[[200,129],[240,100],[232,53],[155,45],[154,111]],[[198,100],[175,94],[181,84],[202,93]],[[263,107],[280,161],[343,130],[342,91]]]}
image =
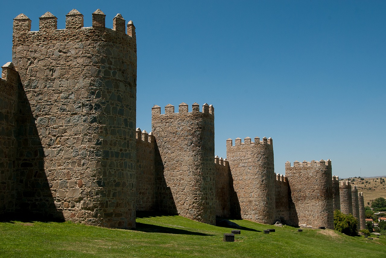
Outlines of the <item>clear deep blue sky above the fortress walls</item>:
{"label": "clear deep blue sky above the fortress walls", "polygon": [[[12,19],[38,30],[73,8],[91,26],[121,13],[137,32],[137,127],[151,107],[215,107],[215,153],[228,138],[272,137],[286,161],[331,159],[333,174],[386,175],[386,1],[3,1],[0,62],[11,60]],[[191,110],[191,106],[190,106]]]}

